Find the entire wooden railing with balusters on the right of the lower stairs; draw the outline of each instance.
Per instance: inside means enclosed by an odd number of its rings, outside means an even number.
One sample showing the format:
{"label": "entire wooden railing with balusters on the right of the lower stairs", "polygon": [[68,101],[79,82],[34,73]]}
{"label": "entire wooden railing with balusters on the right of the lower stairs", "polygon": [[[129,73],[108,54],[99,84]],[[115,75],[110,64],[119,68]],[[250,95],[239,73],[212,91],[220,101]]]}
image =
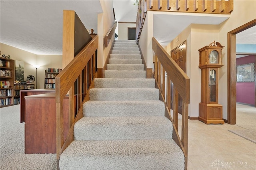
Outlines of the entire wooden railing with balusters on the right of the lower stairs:
{"label": "entire wooden railing with balusters on the right of the lower stairs", "polygon": [[[188,162],[188,104],[190,103],[190,79],[154,37],[152,38],[152,49],[155,53],[153,74],[161,93],[160,98],[162,98],[161,100],[166,104],[166,117],[172,121],[174,126],[174,141],[184,152],[186,169]],[[167,82],[165,82],[166,75]],[[171,116],[170,81],[172,81],[174,85],[174,100],[172,102],[173,117]],[[167,94],[166,97],[165,94]],[[183,99],[181,137],[178,135],[178,95]]]}

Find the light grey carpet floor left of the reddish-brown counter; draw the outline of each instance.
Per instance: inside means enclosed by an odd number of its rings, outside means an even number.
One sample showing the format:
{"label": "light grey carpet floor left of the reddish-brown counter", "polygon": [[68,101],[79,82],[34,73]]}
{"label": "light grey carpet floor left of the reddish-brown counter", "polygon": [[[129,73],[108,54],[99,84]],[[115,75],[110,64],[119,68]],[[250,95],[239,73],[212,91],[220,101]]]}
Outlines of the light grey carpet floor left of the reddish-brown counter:
{"label": "light grey carpet floor left of the reddish-brown counter", "polygon": [[0,109],[0,169],[56,170],[56,154],[25,154],[20,105]]}

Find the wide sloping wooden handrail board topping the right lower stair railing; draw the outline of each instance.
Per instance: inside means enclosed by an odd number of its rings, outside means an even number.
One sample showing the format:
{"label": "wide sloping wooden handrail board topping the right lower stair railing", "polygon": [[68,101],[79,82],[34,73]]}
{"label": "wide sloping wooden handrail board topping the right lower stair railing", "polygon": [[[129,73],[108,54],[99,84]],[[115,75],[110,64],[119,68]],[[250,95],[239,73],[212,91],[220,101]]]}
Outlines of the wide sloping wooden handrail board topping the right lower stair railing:
{"label": "wide sloping wooden handrail board topping the right lower stair railing", "polygon": [[[182,71],[182,69],[178,66],[178,64],[172,58],[164,57],[170,56],[164,48],[156,41],[156,39],[152,38],[152,49],[157,53],[159,61],[162,63],[164,68],[166,69],[166,73],[168,73],[172,82],[175,84],[175,87],[179,91],[180,96],[185,103],[189,103],[190,101],[190,79],[189,77]],[[175,67],[176,69],[172,69]],[[185,93],[187,90],[187,93]]]}

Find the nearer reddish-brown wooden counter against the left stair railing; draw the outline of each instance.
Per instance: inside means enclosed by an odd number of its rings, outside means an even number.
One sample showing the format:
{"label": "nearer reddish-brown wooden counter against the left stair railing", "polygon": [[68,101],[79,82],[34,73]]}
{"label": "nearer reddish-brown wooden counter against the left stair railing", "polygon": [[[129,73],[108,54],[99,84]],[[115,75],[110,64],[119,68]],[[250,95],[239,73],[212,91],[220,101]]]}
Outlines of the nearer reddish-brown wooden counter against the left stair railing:
{"label": "nearer reddish-brown wooden counter against the left stair railing", "polygon": [[[46,92],[46,91],[38,91]],[[55,93],[24,96],[25,153],[56,153],[56,101]],[[23,91],[25,94],[25,91]],[[23,95],[24,95],[23,94]],[[68,96],[64,99],[64,140],[68,135]]]}

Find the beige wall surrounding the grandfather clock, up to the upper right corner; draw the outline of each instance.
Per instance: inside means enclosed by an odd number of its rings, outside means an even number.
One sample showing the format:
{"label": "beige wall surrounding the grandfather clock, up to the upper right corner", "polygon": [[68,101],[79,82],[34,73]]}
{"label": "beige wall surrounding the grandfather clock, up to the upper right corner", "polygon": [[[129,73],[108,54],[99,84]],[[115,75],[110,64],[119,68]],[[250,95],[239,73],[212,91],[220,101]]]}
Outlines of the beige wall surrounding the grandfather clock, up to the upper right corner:
{"label": "beige wall surrounding the grandfather clock, up to the upper right corner", "polygon": [[170,53],[171,49],[174,49],[184,40],[187,40],[187,74],[190,77],[190,117],[198,117],[199,115],[198,104],[201,98],[201,70],[198,68],[198,49],[209,45],[215,40],[225,46],[222,51],[222,63],[224,66],[219,71],[219,103],[223,106],[223,118],[227,119],[227,33],[254,20],[256,13],[246,11],[254,11],[255,6],[255,0],[234,0],[234,11],[228,20],[218,26],[191,24],[179,35],[180,40],[178,42],[172,41],[167,45],[166,50]]}

